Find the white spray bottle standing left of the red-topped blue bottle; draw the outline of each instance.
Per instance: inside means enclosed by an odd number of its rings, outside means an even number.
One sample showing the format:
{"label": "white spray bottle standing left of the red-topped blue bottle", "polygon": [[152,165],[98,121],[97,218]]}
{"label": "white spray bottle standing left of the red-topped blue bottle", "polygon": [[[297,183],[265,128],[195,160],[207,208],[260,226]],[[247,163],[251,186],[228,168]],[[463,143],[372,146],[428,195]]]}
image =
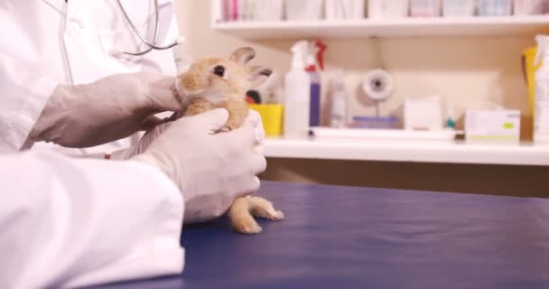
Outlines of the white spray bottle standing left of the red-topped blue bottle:
{"label": "white spray bottle standing left of the red-topped blue bottle", "polygon": [[311,77],[305,71],[309,42],[293,45],[292,69],[284,76],[284,135],[305,135],[309,129]]}

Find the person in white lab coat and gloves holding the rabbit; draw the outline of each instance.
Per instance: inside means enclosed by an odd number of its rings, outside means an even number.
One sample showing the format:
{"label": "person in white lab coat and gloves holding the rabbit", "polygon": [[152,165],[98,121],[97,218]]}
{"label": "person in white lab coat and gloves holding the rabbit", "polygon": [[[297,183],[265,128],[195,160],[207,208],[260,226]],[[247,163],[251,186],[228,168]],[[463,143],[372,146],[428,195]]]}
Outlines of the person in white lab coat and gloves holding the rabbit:
{"label": "person in white lab coat and gloves holding the rabbit", "polygon": [[181,273],[181,224],[258,189],[256,113],[222,134],[224,109],[156,126],[146,150],[135,137],[185,101],[172,48],[132,28],[178,42],[172,1],[157,4],[0,0],[0,288]]}

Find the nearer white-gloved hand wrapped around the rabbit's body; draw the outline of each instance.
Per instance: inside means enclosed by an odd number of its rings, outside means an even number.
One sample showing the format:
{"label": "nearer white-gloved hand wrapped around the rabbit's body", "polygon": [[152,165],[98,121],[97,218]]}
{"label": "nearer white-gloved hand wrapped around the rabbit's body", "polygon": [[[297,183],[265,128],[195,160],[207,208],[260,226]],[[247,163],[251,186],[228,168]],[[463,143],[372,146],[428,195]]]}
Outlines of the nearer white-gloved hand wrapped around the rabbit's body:
{"label": "nearer white-gloved hand wrapped around the rabbit's body", "polygon": [[254,124],[218,133],[227,120],[223,108],[183,117],[132,158],[150,163],[179,187],[185,223],[218,218],[235,199],[259,189],[256,175],[265,171],[266,161],[254,149]]}

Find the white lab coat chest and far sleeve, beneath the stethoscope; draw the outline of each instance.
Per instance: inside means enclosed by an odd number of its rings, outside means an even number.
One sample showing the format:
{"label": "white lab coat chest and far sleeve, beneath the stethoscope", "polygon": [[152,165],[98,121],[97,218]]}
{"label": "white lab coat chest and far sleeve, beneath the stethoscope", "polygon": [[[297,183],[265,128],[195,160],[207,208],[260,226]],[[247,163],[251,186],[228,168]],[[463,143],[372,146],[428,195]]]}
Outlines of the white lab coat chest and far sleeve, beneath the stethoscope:
{"label": "white lab coat chest and far sleeve, beneath the stethoscope", "polygon": [[[147,39],[154,38],[154,1],[121,0]],[[172,0],[159,0],[159,43],[173,42],[177,24]],[[82,84],[116,73],[176,74],[172,50],[144,56],[112,56],[113,49],[143,50],[114,0],[0,0],[0,152],[19,150],[60,83]],[[114,151],[138,137],[74,150],[37,143],[67,154]],[[130,141],[133,140],[133,141]]]}

